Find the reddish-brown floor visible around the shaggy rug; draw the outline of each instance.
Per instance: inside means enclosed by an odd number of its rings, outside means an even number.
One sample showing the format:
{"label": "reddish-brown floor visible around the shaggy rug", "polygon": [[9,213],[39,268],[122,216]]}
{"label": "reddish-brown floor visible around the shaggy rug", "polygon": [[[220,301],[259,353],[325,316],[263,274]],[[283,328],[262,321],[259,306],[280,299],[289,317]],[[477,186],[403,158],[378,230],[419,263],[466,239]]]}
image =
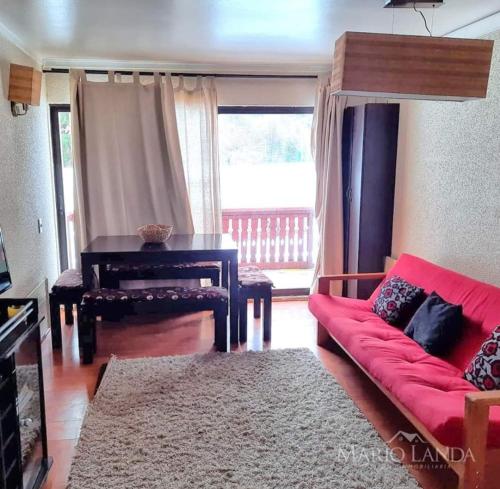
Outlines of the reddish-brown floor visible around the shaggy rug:
{"label": "reddish-brown floor visible around the shaggy rug", "polygon": [[[237,350],[262,349],[261,333],[260,320],[254,321],[249,314],[249,341]],[[162,320],[141,318],[140,322],[107,323],[99,329],[98,339],[97,357],[90,366],[80,365],[76,325],[63,326],[61,352],[52,355],[50,336],[43,343],[49,451],[54,457],[47,489],[63,489],[66,486],[82,419],[92,399],[102,363],[111,354],[130,358],[210,351],[213,323],[206,314]],[[310,348],[355,400],[382,438],[390,440],[399,430],[414,432],[412,426],[352,362],[340,352],[317,348],[315,341],[316,322],[308,312],[306,302],[273,304],[273,338],[270,344],[264,346],[265,349]],[[411,451],[411,445],[405,441],[395,440],[391,446],[394,445],[407,454]],[[410,470],[424,489],[456,488],[457,479],[447,468],[410,467]]]}

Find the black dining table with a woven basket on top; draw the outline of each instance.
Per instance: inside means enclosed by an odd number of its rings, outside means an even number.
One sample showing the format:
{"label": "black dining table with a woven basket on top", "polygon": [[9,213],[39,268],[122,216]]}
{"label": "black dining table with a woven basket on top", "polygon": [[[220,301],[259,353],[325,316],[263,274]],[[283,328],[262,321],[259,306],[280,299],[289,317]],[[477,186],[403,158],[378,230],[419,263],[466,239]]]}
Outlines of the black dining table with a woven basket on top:
{"label": "black dining table with a woven basket on top", "polygon": [[229,290],[231,343],[238,332],[238,245],[229,234],[173,234],[164,243],[144,243],[135,235],[98,236],[81,253],[82,278],[92,288],[94,266],[134,263],[221,263],[221,284]]}

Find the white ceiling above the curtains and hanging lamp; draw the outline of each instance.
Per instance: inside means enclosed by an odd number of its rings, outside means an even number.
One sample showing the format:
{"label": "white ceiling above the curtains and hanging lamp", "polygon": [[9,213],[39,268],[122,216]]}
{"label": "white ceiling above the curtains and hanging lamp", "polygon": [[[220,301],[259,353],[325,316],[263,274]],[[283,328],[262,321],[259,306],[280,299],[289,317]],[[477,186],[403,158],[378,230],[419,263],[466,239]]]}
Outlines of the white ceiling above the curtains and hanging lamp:
{"label": "white ceiling above the curtains and hanging lamp", "polygon": [[[444,35],[500,10],[445,0],[424,13]],[[384,0],[0,0],[0,32],[46,66],[315,71],[346,30],[426,34]],[[394,27],[393,27],[394,15]],[[500,17],[500,16],[497,16]],[[500,28],[500,25],[498,26]]]}

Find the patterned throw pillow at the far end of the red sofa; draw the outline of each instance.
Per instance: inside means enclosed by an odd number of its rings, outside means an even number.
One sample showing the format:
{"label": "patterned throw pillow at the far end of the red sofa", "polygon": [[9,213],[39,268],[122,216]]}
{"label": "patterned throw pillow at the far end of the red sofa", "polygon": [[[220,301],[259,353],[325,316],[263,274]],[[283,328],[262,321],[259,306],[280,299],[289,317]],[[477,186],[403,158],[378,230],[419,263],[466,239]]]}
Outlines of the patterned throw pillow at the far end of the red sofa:
{"label": "patterned throw pillow at the far end of the red sofa", "polygon": [[424,289],[394,275],[382,285],[373,304],[373,312],[389,324],[401,324],[410,318],[424,300]]}

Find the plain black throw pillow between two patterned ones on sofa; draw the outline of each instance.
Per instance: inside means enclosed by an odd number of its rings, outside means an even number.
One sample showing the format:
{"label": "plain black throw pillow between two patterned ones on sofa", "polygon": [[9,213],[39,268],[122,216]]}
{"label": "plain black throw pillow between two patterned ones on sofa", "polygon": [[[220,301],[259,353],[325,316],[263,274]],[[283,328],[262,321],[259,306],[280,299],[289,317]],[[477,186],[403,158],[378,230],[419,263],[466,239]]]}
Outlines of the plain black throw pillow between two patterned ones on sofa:
{"label": "plain black throw pillow between two patterned ones on sofa", "polygon": [[462,306],[450,304],[432,292],[417,309],[405,329],[430,355],[446,355],[463,330]]}

